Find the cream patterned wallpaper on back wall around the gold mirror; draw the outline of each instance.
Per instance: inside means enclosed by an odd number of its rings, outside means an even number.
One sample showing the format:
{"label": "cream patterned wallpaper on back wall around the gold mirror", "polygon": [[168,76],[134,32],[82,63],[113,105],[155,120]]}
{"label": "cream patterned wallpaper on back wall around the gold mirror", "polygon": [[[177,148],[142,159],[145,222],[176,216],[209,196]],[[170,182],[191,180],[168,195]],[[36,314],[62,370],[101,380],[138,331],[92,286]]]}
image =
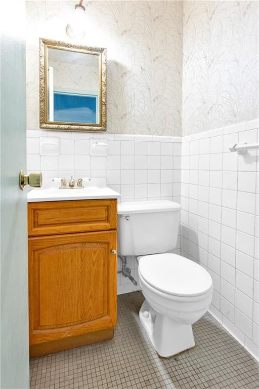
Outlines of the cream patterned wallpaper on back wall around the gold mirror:
{"label": "cream patterned wallpaper on back wall around the gold mirror", "polygon": [[[27,128],[38,129],[38,37],[68,41],[75,1],[27,1]],[[181,135],[182,2],[87,2],[82,42],[107,48],[107,131]]]}

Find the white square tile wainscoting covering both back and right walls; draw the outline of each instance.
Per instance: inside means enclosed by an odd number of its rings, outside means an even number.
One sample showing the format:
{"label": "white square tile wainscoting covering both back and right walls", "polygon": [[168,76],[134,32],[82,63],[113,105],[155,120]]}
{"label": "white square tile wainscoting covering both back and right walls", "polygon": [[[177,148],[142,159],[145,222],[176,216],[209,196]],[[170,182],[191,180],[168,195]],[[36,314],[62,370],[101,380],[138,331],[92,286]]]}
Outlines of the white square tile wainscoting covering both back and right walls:
{"label": "white square tile wainscoting covering both back and right walls", "polygon": [[[253,120],[183,138],[32,130],[28,172],[106,177],[121,201],[180,202],[181,254],[208,269],[214,283],[210,312],[258,359],[258,151],[228,150],[237,141],[259,141],[258,128]],[[40,155],[40,137],[58,138],[59,155]],[[90,155],[91,138],[108,141],[107,157]],[[138,281],[136,259],[127,260]],[[139,283],[134,287],[118,275],[118,294],[137,289]]]}

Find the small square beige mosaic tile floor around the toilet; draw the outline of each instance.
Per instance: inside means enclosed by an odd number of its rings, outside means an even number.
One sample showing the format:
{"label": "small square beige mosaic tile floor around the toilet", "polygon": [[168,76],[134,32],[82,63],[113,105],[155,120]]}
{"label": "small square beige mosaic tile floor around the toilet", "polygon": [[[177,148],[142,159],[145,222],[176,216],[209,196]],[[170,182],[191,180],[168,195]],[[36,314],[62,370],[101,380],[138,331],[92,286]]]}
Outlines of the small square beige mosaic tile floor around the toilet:
{"label": "small square beige mosaic tile floor around the toilet", "polygon": [[193,349],[159,358],[139,322],[142,302],[141,292],[118,296],[114,339],[31,360],[30,388],[259,388],[259,364],[209,314],[193,326]]}

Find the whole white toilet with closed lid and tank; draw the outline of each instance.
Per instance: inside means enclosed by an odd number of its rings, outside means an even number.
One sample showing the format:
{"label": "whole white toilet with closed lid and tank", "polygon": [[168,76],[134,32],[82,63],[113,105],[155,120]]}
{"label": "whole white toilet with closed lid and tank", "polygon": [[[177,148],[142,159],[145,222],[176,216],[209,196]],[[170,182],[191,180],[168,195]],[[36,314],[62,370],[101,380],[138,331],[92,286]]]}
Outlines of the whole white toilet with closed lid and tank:
{"label": "whole white toilet with closed lid and tank", "polygon": [[177,244],[180,210],[180,204],[167,200],[118,205],[118,253],[137,256],[145,297],[139,317],[161,357],[194,347],[192,324],[212,300],[208,272],[188,258],[168,253]]}

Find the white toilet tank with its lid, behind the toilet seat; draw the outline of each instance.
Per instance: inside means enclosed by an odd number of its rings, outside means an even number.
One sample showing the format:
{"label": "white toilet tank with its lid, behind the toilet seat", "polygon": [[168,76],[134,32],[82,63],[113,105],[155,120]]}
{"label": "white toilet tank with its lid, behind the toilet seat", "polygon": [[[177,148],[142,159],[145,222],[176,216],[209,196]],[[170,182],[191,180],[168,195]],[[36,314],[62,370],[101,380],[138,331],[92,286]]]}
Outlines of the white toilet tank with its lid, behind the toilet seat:
{"label": "white toilet tank with its lid, behind the toilet seat", "polygon": [[177,244],[181,205],[168,200],[118,204],[118,253],[163,253]]}

